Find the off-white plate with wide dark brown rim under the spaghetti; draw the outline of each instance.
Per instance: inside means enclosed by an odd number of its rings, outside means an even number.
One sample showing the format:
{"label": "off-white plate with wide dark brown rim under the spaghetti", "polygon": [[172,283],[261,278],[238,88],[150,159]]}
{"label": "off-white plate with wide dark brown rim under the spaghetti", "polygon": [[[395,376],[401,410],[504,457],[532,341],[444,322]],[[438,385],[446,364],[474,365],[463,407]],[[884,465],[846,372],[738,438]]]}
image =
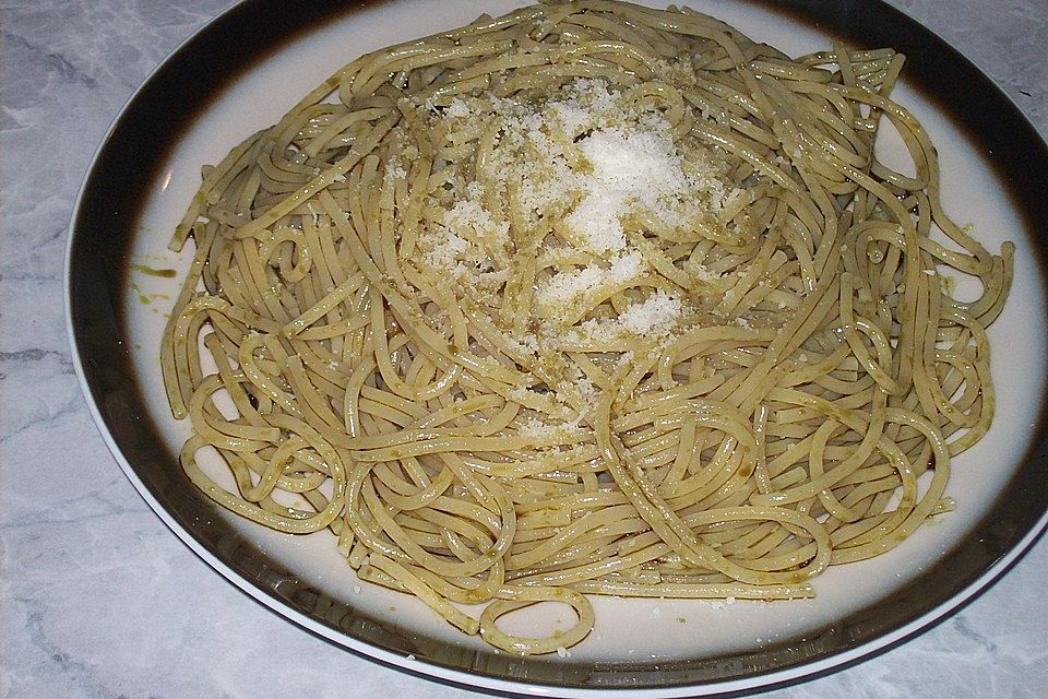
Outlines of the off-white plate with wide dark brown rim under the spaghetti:
{"label": "off-white plate with wide dark brown rim under the spaghetti", "polygon": [[791,55],[833,37],[905,54],[894,96],[937,144],[946,210],[990,249],[1016,242],[1012,298],[990,331],[998,416],[956,460],[948,494],[957,511],[884,556],[827,571],[814,581],[814,601],[602,597],[597,627],[571,655],[521,659],[461,637],[417,600],[359,583],[322,537],[284,536],[217,509],[176,463],[187,427],[170,418],[156,358],[176,280],[151,273],[184,265],[165,246],[200,165],[276,121],[357,55],[479,11],[466,0],[440,13],[424,0],[300,3],[294,12],[249,0],[189,39],[129,102],[85,180],[68,250],[69,330],[88,403],[132,484],[187,545],[277,614],[349,650],[463,685],[572,697],[715,695],[825,673],[928,628],[1022,555],[1048,523],[1039,266],[1048,244],[1036,223],[1048,221],[1048,147],[985,75],[879,2],[689,4]]}

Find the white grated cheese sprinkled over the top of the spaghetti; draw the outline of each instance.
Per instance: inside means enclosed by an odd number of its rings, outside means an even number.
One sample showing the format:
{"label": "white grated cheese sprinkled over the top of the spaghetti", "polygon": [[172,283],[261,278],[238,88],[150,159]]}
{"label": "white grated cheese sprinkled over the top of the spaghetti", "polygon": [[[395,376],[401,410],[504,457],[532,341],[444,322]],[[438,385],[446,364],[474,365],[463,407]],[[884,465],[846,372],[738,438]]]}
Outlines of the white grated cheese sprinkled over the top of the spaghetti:
{"label": "white grated cheese sprinkled over the top of the spaghetti", "polygon": [[[712,150],[675,142],[656,102],[577,79],[531,99],[471,94],[420,111],[452,147],[484,144],[485,163],[445,164],[448,183],[427,202],[416,260],[522,351],[541,359],[585,346],[632,357],[626,348],[666,346],[694,316],[682,287],[646,261],[647,237],[687,235],[741,192],[722,181],[724,161]],[[678,269],[696,284],[717,279],[701,262]],[[522,303],[524,318],[507,307]],[[563,378],[596,400],[579,367]],[[549,428],[522,425],[536,436]]]}

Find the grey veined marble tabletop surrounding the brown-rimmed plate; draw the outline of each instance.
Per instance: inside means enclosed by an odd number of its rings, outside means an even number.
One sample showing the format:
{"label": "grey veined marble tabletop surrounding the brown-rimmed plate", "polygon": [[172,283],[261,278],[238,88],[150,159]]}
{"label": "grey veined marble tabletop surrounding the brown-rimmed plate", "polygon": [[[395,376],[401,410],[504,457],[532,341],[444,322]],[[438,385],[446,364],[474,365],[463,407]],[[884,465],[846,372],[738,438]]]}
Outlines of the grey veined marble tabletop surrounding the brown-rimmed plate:
{"label": "grey veined marble tabletop surrounding the brown-rimmed plate", "polygon": [[[1048,132],[1045,0],[893,0]],[[478,696],[338,650],[182,545],[106,450],[70,360],[62,258],[120,106],[228,0],[0,0],[0,697]],[[28,303],[32,299],[32,303]],[[1048,541],[876,659],[769,697],[1048,696]]]}

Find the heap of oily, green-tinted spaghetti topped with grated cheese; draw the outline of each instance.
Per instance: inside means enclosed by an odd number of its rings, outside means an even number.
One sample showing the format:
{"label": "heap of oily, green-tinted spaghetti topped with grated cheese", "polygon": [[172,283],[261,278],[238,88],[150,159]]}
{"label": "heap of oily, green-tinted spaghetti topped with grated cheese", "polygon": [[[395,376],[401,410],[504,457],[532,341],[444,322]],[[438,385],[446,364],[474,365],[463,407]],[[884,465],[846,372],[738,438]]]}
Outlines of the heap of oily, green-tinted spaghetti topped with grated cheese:
{"label": "heap of oily, green-tinted spaghetti topped with grated cheese", "polygon": [[[902,64],[598,0],[354,60],[175,233],[186,474],[512,653],[587,595],[810,596],[950,510],[993,414],[1012,247],[942,211]],[[540,602],[577,621],[500,629]]]}

